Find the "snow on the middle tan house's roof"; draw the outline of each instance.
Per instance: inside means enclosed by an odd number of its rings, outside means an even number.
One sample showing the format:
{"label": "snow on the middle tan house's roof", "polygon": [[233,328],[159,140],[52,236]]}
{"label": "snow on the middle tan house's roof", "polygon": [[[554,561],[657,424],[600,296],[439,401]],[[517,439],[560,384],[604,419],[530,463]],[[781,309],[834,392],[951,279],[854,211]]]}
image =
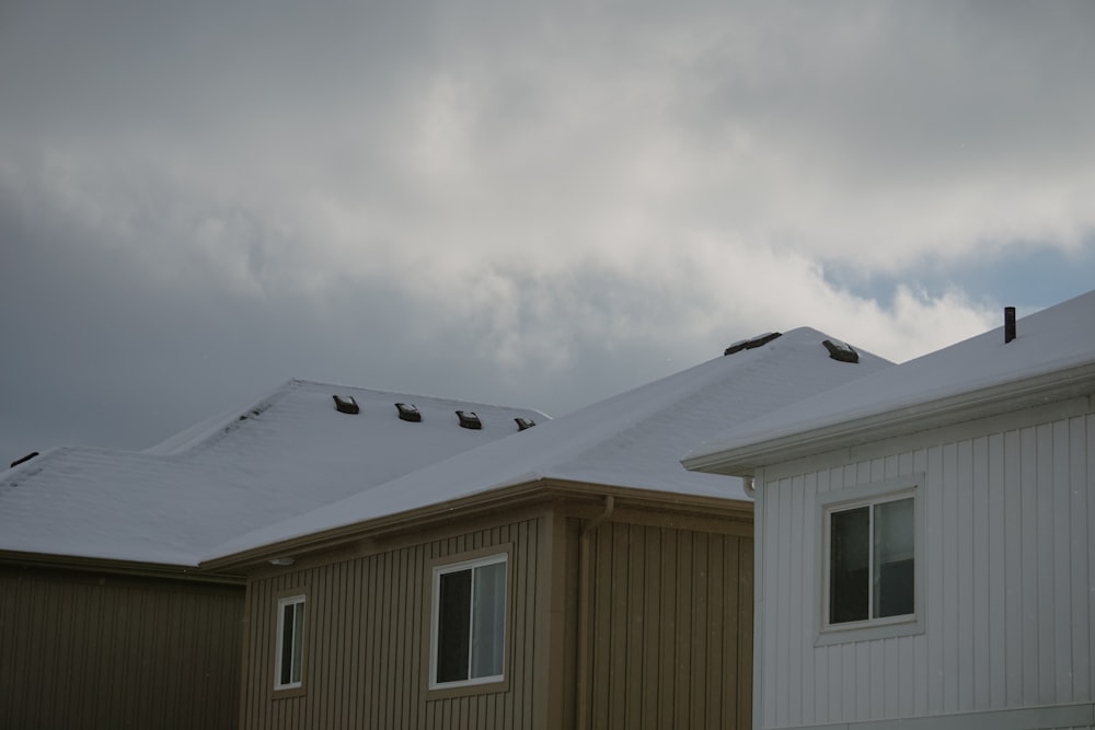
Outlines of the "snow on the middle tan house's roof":
{"label": "snow on the middle tan house's roof", "polygon": [[[799,328],[587,406],[226,543],[207,559],[537,479],[746,499],[739,482],[688,472],[680,455],[703,437],[890,363],[861,352],[830,359],[827,336]],[[759,341],[759,340],[758,340]]]}

